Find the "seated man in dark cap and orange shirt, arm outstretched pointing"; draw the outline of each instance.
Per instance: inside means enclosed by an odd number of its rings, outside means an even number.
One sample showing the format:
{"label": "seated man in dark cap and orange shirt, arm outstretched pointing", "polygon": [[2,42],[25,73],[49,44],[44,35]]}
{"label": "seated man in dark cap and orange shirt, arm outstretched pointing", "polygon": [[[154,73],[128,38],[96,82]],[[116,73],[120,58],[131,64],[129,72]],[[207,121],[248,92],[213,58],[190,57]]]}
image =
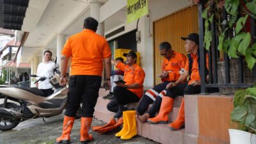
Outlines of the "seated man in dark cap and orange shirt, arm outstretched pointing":
{"label": "seated man in dark cap and orange shirt, arm outstretched pointing", "polygon": [[126,56],[125,64],[112,60],[116,68],[124,71],[125,83],[117,83],[114,88],[115,99],[109,102],[108,105],[118,105],[118,111],[114,118],[120,118],[123,115],[123,111],[126,110],[125,104],[131,102],[138,102],[143,94],[143,83],[145,79],[144,70],[136,64],[137,55],[135,52],[130,51],[124,53]]}

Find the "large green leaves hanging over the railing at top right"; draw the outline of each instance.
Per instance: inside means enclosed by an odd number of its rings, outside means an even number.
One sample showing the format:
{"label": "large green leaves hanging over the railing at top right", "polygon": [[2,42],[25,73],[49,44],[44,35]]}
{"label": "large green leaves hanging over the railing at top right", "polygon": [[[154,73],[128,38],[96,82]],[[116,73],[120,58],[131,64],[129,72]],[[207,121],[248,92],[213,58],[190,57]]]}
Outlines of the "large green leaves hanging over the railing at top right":
{"label": "large green leaves hanging over the railing at top right", "polygon": [[[246,22],[256,19],[256,0],[194,0],[204,4],[204,47],[209,50],[212,33],[218,36],[218,49],[231,58],[244,56],[248,68],[252,70],[256,63],[256,40],[246,29]],[[223,13],[227,17],[223,17]],[[216,25],[216,31],[211,24]]]}

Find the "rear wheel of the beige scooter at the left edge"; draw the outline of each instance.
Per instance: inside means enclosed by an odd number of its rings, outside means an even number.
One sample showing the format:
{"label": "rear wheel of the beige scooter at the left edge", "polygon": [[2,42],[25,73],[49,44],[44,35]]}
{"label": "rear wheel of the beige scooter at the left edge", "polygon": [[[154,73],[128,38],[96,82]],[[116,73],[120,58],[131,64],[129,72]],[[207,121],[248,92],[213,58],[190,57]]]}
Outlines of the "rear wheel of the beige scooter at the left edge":
{"label": "rear wheel of the beige scooter at the left edge", "polygon": [[[4,104],[0,104],[0,108],[3,108]],[[17,104],[12,102],[6,102],[5,108],[19,108]],[[0,116],[0,131],[9,131],[16,127],[20,123],[20,118],[8,118]]]}

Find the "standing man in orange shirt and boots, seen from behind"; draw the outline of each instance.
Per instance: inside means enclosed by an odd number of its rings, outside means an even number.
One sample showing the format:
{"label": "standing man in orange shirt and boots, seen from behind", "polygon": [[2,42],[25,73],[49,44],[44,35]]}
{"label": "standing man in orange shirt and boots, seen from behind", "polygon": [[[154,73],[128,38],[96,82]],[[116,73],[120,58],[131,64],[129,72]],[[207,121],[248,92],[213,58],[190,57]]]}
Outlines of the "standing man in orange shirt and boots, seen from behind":
{"label": "standing man in orange shirt and boots, seen from behind", "polygon": [[108,86],[110,86],[111,72],[111,50],[106,39],[95,33],[98,24],[97,20],[92,17],[86,18],[83,31],[70,36],[61,52],[61,85],[67,83],[67,63],[70,56],[72,58],[63,132],[61,137],[57,138],[57,143],[70,143],[74,117],[81,102],[83,107],[81,110],[80,141],[83,144],[92,140],[92,135],[88,134],[88,131],[99,97],[103,63]]}

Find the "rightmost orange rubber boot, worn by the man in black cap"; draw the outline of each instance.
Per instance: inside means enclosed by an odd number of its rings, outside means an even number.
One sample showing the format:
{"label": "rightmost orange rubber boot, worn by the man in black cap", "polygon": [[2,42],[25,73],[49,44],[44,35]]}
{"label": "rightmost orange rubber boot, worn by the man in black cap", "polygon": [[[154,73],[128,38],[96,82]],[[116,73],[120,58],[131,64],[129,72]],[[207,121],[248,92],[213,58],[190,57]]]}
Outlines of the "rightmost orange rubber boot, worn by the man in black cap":
{"label": "rightmost orange rubber boot, worn by the man in black cap", "polygon": [[184,97],[182,99],[182,102],[180,104],[180,111],[179,115],[177,116],[176,120],[169,125],[172,130],[177,131],[185,124],[185,111],[184,111]]}

